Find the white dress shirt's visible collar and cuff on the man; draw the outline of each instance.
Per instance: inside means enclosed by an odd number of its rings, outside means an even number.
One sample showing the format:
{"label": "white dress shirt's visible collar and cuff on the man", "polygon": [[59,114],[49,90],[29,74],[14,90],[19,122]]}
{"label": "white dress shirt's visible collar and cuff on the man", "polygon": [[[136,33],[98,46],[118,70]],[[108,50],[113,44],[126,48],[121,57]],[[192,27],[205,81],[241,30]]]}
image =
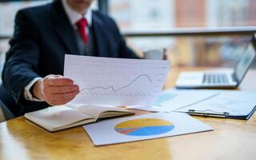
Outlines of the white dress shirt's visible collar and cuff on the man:
{"label": "white dress shirt's visible collar and cuff on the man", "polygon": [[[62,6],[63,9],[66,12],[67,17],[70,20],[70,23],[74,27],[74,30],[77,30],[78,27],[76,26],[76,22],[78,22],[81,18],[86,18],[88,26],[92,25],[92,10],[89,8],[88,10],[85,10],[85,14],[79,14],[77,11],[72,10],[70,6],[66,3],[66,0],[62,0]],[[88,27],[86,28],[86,34],[89,34]],[[33,95],[30,93],[30,89],[32,86],[34,86],[35,82],[38,82],[42,78],[34,78],[32,81],[30,81],[24,88],[24,97],[26,100],[29,101],[35,101],[35,102],[43,102],[42,100],[39,100],[38,98],[34,98]]]}

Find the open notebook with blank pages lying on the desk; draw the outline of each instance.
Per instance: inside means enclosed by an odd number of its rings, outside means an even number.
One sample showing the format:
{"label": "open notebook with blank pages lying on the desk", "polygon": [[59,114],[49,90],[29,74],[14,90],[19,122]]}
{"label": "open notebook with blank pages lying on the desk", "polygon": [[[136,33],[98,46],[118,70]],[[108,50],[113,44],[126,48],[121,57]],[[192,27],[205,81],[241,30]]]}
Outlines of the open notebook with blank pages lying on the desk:
{"label": "open notebook with blank pages lying on the desk", "polygon": [[54,132],[97,122],[103,118],[129,114],[134,114],[134,112],[106,106],[51,106],[43,110],[26,113],[25,118],[50,132]]}

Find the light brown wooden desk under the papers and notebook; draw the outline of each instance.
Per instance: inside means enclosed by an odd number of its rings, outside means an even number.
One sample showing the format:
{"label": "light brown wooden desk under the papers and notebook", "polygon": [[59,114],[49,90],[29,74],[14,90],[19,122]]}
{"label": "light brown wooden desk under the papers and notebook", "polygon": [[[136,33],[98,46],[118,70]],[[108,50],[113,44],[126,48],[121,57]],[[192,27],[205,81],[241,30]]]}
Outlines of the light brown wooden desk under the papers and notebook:
{"label": "light brown wooden desk under the papers and notebook", "polygon": [[[170,70],[166,88],[180,70]],[[242,90],[256,90],[250,71]],[[200,118],[214,131],[95,147],[82,127],[51,134],[21,118],[0,123],[0,159],[255,159],[256,114],[249,121]],[[102,130],[104,131],[104,130]],[[106,135],[107,136],[107,135]]]}

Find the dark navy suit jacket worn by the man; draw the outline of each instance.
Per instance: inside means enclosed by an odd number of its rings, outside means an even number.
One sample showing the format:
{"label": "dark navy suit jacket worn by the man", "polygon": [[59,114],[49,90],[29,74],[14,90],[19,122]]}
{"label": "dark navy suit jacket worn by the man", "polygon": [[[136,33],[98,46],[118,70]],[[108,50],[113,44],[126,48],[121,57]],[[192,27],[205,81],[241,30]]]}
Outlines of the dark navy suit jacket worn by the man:
{"label": "dark navy suit jacket worn by the man", "polygon": [[[92,30],[97,56],[138,58],[107,15],[93,11]],[[46,102],[26,101],[24,87],[33,78],[63,74],[64,54],[75,53],[78,53],[75,31],[60,0],[18,11],[2,72],[4,87],[20,106],[18,114],[49,106]]]}

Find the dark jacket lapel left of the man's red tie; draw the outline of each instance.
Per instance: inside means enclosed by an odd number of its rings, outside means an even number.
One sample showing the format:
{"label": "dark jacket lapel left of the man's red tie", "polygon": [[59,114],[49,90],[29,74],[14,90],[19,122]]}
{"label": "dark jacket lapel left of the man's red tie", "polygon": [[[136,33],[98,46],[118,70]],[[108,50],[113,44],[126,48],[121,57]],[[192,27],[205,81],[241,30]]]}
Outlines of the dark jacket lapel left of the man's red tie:
{"label": "dark jacket lapel left of the man's red tie", "polygon": [[62,2],[60,0],[53,2],[52,10],[53,27],[57,32],[60,41],[62,41],[64,46],[69,50],[70,53],[68,54],[78,54],[78,42],[76,40],[74,28],[66,16]]}

